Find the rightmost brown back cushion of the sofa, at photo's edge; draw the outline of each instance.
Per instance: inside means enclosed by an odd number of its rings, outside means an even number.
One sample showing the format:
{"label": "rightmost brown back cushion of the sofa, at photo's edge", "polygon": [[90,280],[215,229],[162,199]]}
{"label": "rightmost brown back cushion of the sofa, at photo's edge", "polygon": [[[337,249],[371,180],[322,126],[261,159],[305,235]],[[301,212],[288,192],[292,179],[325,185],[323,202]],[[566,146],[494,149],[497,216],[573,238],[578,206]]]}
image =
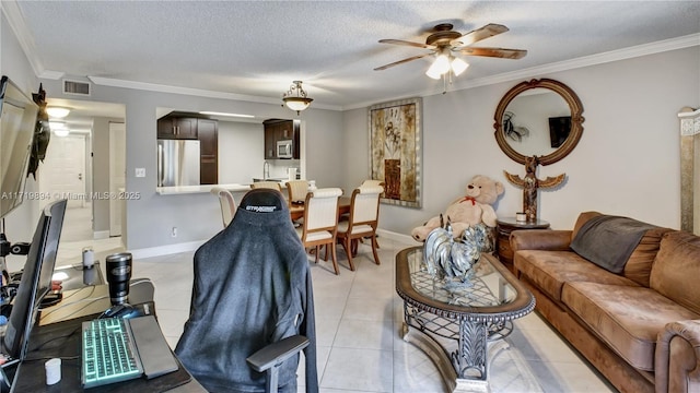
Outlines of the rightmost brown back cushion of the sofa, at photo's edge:
{"label": "rightmost brown back cushion of the sofa, at photo's edge", "polygon": [[700,237],[686,231],[663,236],[652,265],[650,287],[700,313]]}

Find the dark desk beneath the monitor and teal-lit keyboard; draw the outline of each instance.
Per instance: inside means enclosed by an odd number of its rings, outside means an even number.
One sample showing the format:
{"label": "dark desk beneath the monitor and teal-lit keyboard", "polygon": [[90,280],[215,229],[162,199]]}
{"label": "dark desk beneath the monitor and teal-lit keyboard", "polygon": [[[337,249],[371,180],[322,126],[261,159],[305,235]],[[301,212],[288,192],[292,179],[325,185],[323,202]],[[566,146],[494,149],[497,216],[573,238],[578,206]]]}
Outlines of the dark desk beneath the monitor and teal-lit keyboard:
{"label": "dark desk beneath the monitor and teal-lit keyboard", "polygon": [[[129,302],[145,307],[155,313],[154,287],[148,279],[135,278],[129,291]],[[63,291],[63,299],[56,306],[42,310],[38,325],[32,329],[27,358],[20,364],[14,374],[11,392],[82,392],[81,386],[81,342],[82,321],[96,318],[109,308],[107,285],[86,286]],[[60,357],[61,381],[55,385],[45,384],[44,359]],[[92,388],[90,392],[177,392],[202,393],[206,390],[187,372],[183,365],[172,373],[147,380],[130,381]]]}

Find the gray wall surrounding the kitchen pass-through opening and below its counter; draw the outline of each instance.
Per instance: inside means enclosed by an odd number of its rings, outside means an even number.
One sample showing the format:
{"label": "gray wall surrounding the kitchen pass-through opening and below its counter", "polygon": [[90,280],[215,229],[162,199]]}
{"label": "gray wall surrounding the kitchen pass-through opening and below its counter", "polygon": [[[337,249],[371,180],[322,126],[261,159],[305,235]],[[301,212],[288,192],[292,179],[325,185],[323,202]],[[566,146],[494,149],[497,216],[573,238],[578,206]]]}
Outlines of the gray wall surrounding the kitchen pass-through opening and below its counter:
{"label": "gray wall surrounding the kitchen pass-through opening and below its counter", "polygon": [[[61,95],[60,81],[43,80],[49,97],[75,99]],[[141,198],[126,202],[126,226],[122,237],[130,250],[176,243],[199,242],[221,229],[219,202],[212,195],[159,195],[155,193],[156,107],[186,111],[234,111],[260,118],[290,118],[290,110],[280,105],[196,97],[180,94],[148,92],[132,88],[93,85],[92,100],[124,104],[127,132],[128,192]],[[339,184],[340,165],[345,153],[327,146],[340,146],[342,114],[315,109],[301,116],[306,130],[310,179],[319,184]],[[337,163],[337,164],[336,164]],[[145,168],[144,178],[135,177],[135,168]],[[171,237],[177,227],[177,237]]]}

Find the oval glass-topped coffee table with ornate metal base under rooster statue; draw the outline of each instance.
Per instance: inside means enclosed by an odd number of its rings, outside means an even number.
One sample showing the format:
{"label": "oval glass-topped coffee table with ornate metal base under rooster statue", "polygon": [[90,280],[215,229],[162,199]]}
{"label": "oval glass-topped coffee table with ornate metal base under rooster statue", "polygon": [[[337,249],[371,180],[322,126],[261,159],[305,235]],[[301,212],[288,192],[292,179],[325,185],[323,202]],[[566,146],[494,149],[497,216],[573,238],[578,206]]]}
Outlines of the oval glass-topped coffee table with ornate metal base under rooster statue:
{"label": "oval glass-topped coffee table with ornate metal base under rooster statue", "polygon": [[508,348],[513,320],[535,298],[493,255],[482,253],[469,285],[433,278],[423,248],[396,255],[396,291],[404,299],[402,336],[423,350],[451,392],[488,392],[489,360]]}

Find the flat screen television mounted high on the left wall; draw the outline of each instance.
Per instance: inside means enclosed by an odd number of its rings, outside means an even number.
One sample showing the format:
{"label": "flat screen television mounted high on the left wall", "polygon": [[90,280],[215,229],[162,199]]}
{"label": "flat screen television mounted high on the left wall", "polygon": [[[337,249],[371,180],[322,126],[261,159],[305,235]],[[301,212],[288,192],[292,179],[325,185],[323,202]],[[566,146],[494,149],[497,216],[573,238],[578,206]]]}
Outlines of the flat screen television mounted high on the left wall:
{"label": "flat screen television mounted high on the left wall", "polygon": [[8,76],[0,79],[0,217],[23,201],[38,111]]}

